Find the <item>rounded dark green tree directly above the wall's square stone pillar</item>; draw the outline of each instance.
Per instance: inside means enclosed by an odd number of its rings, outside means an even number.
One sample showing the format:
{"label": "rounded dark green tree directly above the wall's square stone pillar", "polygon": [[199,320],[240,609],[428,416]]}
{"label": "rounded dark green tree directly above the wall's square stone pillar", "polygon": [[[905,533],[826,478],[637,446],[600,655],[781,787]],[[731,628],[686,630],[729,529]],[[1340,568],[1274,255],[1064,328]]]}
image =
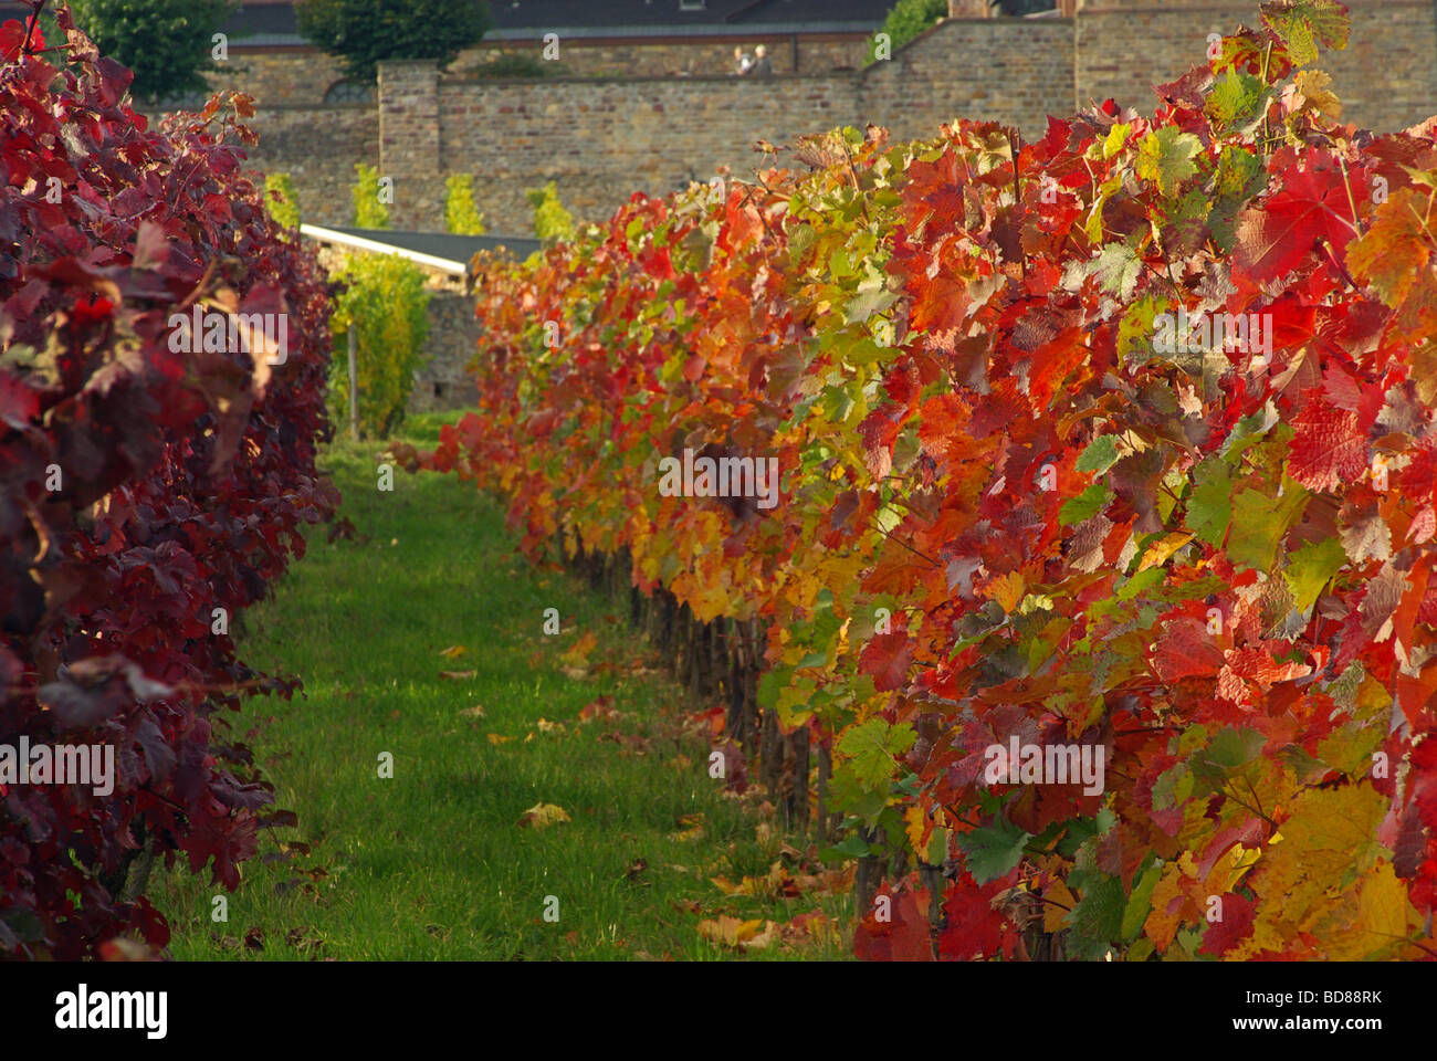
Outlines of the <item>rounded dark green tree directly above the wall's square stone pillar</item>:
{"label": "rounded dark green tree directly above the wall's square stone pillar", "polygon": [[435,59],[448,66],[493,22],[484,0],[303,0],[299,33],[339,56],[345,72],[372,82],[385,59]]}

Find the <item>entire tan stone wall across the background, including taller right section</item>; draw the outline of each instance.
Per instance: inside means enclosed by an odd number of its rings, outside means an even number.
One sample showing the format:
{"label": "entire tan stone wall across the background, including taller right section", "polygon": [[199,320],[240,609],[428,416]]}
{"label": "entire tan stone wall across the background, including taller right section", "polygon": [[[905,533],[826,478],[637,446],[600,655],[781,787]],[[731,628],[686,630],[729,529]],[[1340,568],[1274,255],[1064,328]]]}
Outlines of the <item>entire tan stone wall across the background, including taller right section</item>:
{"label": "entire tan stone wall across the background, including taller right section", "polygon": [[[1437,3],[1349,6],[1348,50],[1323,53],[1318,63],[1334,75],[1345,118],[1391,131],[1437,112]],[[710,180],[720,165],[746,175],[759,161],[752,151],[759,138],[789,144],[867,122],[900,138],[930,137],[957,116],[996,119],[1039,137],[1049,114],[1108,96],[1151,114],[1151,85],[1204,62],[1210,32],[1257,20],[1256,0],[1083,0],[1069,7],[1071,17],[948,19],[867,69],[832,69],[858,66],[864,52],[862,40],[835,36],[800,42],[799,73],[734,78],[727,75],[733,43],[757,39],[726,37],[632,47],[560,42],[560,62],[570,70],[637,72],[627,76],[463,76],[484,53],[540,47],[504,43],[464,53],[450,73],[428,63],[385,63],[374,106],[316,105],[315,96],[339,76],[319,53],[303,59],[308,102],[302,79],[282,69],[282,60],[236,49],[231,63],[236,70],[246,65],[259,98],[254,127],[263,139],[254,161],[295,175],[308,220],[349,216],[354,164],[365,161],[395,181],[395,227],[441,229],[444,177],[468,173],[490,230],[519,234],[530,224],[527,187],[553,180],[578,216],[596,219],[635,190],[671,191]],[[770,50],[777,69],[792,68],[792,49],[777,42]],[[688,69],[706,72],[671,76]]]}

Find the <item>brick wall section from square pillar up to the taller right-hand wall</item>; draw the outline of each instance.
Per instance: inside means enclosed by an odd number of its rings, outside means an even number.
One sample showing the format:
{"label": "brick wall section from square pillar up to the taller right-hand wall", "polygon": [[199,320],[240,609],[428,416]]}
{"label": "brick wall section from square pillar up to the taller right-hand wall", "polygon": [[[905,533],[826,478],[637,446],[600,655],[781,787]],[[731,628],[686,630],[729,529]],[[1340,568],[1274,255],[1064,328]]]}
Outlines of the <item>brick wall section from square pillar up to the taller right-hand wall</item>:
{"label": "brick wall section from square pillar up to the taller right-hand wall", "polygon": [[[526,231],[525,188],[555,181],[581,217],[602,217],[637,190],[747,175],[754,141],[792,144],[874,122],[923,137],[958,115],[1042,135],[1072,109],[1072,24],[953,20],[867,70],[757,78],[471,81],[424,63],[381,73],[381,170],[395,178],[395,227],[443,219],[444,174],[476,175],[493,231]],[[438,111],[437,132],[418,115]],[[1055,105],[1056,101],[1056,105]]]}

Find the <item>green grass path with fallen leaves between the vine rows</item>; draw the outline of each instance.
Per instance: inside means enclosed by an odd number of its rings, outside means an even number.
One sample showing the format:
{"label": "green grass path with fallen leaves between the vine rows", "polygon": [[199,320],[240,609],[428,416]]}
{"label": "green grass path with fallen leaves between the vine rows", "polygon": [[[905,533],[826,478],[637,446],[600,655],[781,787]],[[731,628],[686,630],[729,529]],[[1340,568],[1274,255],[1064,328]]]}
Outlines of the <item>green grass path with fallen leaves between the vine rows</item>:
{"label": "green grass path with fallen leaves between the vine rows", "polygon": [[[412,420],[405,436],[433,443],[444,418]],[[394,492],[379,492],[382,449],[341,441],[328,451],[358,533],[328,543],[316,529],[240,635],[251,666],[305,681],[292,702],[253,699],[234,720],[299,827],[262,832],[234,893],[207,871],[157,868],[149,894],[171,922],[171,953],[845,957],[846,937],[736,950],[700,936],[700,920],[720,914],[786,922],[822,909],[848,924],[851,894],[730,897],[714,886],[714,876],[764,876],[783,838],[764,808],[726,798],[708,778],[707,742],[680,733],[698,704],[650,670],[652,658],[639,666],[647,646],[611,601],[520,558],[502,509],[470,484],[395,469]],[[556,637],[542,633],[550,607],[562,617]],[[599,638],[588,674],[566,676],[559,656],[583,631]],[[441,657],[450,646],[467,651]],[[625,720],[579,723],[601,694]],[[476,704],[484,717],[461,715]],[[565,732],[540,732],[540,717]],[[604,739],[616,733],[647,735],[648,753]],[[382,752],[394,756],[392,779],[378,776]],[[540,801],[572,821],[520,828]],[[681,838],[685,815],[703,815],[698,835]],[[309,853],[286,853],[295,841]],[[211,920],[217,894],[228,894],[227,923]],[[543,920],[547,896],[558,923]]]}

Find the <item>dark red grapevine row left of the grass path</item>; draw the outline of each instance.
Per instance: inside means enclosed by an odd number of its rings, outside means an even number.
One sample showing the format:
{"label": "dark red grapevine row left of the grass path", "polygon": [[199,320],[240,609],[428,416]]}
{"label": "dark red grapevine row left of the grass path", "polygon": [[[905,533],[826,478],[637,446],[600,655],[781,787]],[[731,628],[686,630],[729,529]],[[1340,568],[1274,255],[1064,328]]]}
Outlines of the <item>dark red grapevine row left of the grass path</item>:
{"label": "dark red grapevine row left of the grass path", "polygon": [[[240,170],[249,101],[148,128],[57,19],[59,49],[0,26],[0,745],[112,745],[115,786],[0,785],[0,955],[79,959],[167,942],[122,897],[141,851],[237,884],[272,792],[216,713],[295,683],[216,610],[260,600],[338,493],[328,289]],[[287,357],[174,352],[197,302],[286,313]]]}

